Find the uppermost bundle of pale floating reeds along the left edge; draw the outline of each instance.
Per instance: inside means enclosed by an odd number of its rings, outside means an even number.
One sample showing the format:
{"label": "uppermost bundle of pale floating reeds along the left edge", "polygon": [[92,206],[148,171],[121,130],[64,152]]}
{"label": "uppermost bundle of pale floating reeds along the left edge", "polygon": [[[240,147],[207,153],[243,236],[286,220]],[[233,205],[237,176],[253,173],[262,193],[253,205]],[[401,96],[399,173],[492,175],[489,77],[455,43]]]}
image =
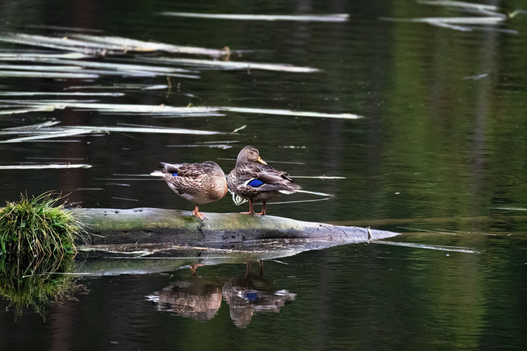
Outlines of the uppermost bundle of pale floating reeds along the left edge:
{"label": "uppermost bundle of pale floating reeds along the left edge", "polygon": [[[111,62],[100,62],[100,61],[86,61],[84,58],[97,58],[101,56],[112,56],[116,54],[122,54],[127,52],[152,52],[162,51],[168,53],[180,53],[180,54],[198,54],[207,55],[213,57],[219,56],[230,56],[233,52],[231,49],[208,49],[198,47],[186,47],[177,46],[163,43],[151,43],[143,42],[135,39],[113,37],[113,36],[97,36],[97,35],[86,35],[86,34],[70,34],[64,37],[50,37],[43,35],[31,35],[23,33],[4,33],[0,34],[0,41],[16,43],[22,45],[41,46],[46,48],[58,49],[61,51],[70,51],[73,53],[67,54],[49,54],[47,52],[37,53],[0,53],[0,60],[4,61],[29,61],[50,64],[44,66],[44,69],[37,69],[31,66],[19,66],[16,69],[22,69],[24,71],[33,70],[40,72],[48,71],[60,71],[70,72],[74,70],[74,67],[67,66],[80,66],[81,69],[77,74],[88,74],[92,75],[87,78],[96,78],[93,75],[111,75],[112,73],[120,74],[122,76],[175,76],[183,78],[199,78],[198,75],[189,75],[183,73],[191,73],[188,69],[176,68],[173,65],[179,66],[193,66],[201,69],[263,69],[267,71],[279,71],[279,72],[295,72],[295,73],[311,73],[320,71],[317,68],[311,67],[298,67],[289,64],[274,64],[274,63],[260,63],[260,62],[232,62],[232,61],[219,61],[219,60],[207,60],[207,59],[191,59],[191,58],[178,58],[178,57],[144,57],[142,55],[136,55],[132,61],[150,62],[158,64],[158,66],[149,65],[138,65],[138,64],[126,64],[126,63],[111,63]],[[120,58],[121,61],[126,59]],[[128,59],[130,61],[130,59]],[[159,64],[171,65],[159,66]],[[57,65],[57,66],[53,66]],[[61,67],[62,66],[62,67]],[[42,66],[40,66],[42,67]],[[47,69],[46,69],[47,68]],[[89,71],[86,68],[97,68],[99,71]],[[77,68],[77,71],[79,69]],[[71,73],[71,72],[70,72]],[[194,72],[196,73],[196,72]],[[71,73],[72,74],[72,73]],[[7,73],[4,73],[7,76]],[[18,75],[24,76],[24,75]],[[26,73],[25,76],[30,76]],[[33,75],[34,76],[34,75]],[[46,77],[43,75],[43,77]],[[84,78],[77,76],[57,76],[49,75],[50,78]]]}

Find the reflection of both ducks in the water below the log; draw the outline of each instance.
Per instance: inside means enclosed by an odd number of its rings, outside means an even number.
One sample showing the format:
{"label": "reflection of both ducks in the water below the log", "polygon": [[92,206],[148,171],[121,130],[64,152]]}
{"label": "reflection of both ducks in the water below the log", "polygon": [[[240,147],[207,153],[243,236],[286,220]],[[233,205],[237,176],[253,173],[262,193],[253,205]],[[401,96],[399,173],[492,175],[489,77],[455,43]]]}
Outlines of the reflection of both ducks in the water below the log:
{"label": "reflection of both ducks in the water below the log", "polygon": [[[250,264],[247,264],[247,272]],[[222,297],[229,305],[232,322],[238,328],[245,328],[255,313],[278,313],[288,301],[296,298],[296,294],[278,290],[273,282],[261,275],[246,274],[229,279],[223,285],[221,281],[204,278],[172,283],[160,292],[147,296],[147,300],[156,302],[161,311],[208,320],[218,313]]]}

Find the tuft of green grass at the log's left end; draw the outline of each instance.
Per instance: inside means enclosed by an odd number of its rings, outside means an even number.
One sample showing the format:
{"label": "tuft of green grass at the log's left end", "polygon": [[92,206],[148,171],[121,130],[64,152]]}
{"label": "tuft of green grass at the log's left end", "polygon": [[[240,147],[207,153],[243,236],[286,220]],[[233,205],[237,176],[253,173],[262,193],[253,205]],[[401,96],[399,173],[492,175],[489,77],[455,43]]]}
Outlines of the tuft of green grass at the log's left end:
{"label": "tuft of green grass at the log's left end", "polygon": [[80,221],[61,203],[63,196],[21,194],[0,208],[0,253],[33,256],[75,253]]}

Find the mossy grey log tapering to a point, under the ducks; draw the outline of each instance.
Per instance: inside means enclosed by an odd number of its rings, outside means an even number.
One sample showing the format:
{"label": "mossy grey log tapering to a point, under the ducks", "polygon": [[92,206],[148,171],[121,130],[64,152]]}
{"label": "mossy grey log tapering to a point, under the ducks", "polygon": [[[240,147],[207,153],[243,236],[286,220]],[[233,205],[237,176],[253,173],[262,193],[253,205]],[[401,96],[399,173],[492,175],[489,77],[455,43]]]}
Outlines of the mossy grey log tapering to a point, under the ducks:
{"label": "mossy grey log tapering to a point, under the ducks", "polygon": [[94,234],[90,235],[88,245],[221,245],[265,239],[324,239],[345,244],[397,235],[384,230],[239,213],[206,213],[209,219],[201,221],[191,212],[160,208],[73,211],[84,223],[86,232]]}

